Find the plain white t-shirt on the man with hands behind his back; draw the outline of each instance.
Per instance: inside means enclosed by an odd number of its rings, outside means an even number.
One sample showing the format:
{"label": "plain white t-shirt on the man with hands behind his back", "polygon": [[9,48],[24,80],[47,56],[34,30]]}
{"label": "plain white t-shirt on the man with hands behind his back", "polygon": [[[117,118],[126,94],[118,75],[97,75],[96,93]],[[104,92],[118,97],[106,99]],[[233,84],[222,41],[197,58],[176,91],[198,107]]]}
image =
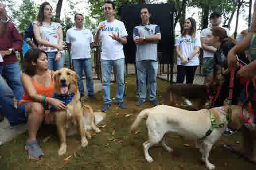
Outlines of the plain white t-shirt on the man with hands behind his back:
{"label": "plain white t-shirt on the man with hands behind his back", "polygon": [[70,28],[66,33],[66,42],[71,43],[72,59],[91,58],[90,43],[94,42],[94,38],[90,30]]}

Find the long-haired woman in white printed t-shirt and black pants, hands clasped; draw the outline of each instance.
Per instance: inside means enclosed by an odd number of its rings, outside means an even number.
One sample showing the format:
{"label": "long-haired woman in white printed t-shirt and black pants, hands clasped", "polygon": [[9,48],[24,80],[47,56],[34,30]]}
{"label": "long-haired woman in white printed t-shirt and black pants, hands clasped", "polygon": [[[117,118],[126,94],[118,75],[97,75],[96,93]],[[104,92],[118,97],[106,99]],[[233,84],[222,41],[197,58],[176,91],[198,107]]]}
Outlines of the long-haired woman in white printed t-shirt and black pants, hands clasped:
{"label": "long-haired woman in white printed t-shirt and black pants, hands clasped", "polygon": [[194,75],[199,65],[198,51],[201,47],[200,37],[196,35],[197,23],[189,17],[185,20],[184,29],[176,39],[177,83],[193,84]]}

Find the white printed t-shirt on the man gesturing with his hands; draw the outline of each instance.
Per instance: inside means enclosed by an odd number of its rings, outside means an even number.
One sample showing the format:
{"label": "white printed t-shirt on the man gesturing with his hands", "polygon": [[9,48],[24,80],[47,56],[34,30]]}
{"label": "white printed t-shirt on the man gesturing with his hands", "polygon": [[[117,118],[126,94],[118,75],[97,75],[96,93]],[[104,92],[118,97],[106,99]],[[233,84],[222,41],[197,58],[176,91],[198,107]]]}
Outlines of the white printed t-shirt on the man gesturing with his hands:
{"label": "white printed t-shirt on the man gesturing with his hands", "polygon": [[99,35],[102,39],[102,52],[101,52],[101,60],[117,60],[120,58],[124,58],[123,53],[123,45],[118,41],[111,38],[113,34],[118,34],[119,37],[127,36],[127,31],[123,22],[115,19],[112,22],[107,22],[107,20],[100,22],[99,25],[106,24],[105,29],[101,30]]}

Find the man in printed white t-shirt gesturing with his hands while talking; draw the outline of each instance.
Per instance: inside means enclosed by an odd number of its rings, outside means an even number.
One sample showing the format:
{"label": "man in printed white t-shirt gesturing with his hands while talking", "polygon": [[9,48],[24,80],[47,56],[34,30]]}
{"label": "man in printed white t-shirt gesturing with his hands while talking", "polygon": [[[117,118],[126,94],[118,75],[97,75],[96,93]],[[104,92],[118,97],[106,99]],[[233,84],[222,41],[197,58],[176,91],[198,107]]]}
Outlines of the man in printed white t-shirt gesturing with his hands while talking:
{"label": "man in printed white t-shirt gesturing with his hands while talking", "polygon": [[123,44],[127,42],[127,31],[123,22],[115,19],[115,4],[112,1],[105,1],[104,14],[106,20],[99,23],[98,30],[95,35],[95,42],[102,39],[101,52],[101,74],[103,86],[104,105],[101,109],[106,112],[111,106],[110,98],[110,79],[111,67],[114,66],[117,77],[117,103],[119,108],[126,108],[123,103],[124,94],[124,53]]}

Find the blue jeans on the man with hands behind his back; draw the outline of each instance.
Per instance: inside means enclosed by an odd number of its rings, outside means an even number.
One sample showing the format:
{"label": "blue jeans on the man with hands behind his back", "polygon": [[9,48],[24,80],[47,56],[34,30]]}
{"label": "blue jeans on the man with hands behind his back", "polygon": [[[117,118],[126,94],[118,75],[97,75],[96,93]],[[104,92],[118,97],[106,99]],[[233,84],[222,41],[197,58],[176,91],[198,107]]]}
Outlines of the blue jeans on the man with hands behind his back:
{"label": "blue jeans on the man with hands behind his back", "polygon": [[75,72],[78,74],[78,86],[81,95],[84,95],[84,86],[82,81],[82,71],[85,73],[86,77],[86,87],[88,91],[88,96],[94,94],[93,78],[92,78],[92,59],[91,58],[81,58],[72,60]]}

